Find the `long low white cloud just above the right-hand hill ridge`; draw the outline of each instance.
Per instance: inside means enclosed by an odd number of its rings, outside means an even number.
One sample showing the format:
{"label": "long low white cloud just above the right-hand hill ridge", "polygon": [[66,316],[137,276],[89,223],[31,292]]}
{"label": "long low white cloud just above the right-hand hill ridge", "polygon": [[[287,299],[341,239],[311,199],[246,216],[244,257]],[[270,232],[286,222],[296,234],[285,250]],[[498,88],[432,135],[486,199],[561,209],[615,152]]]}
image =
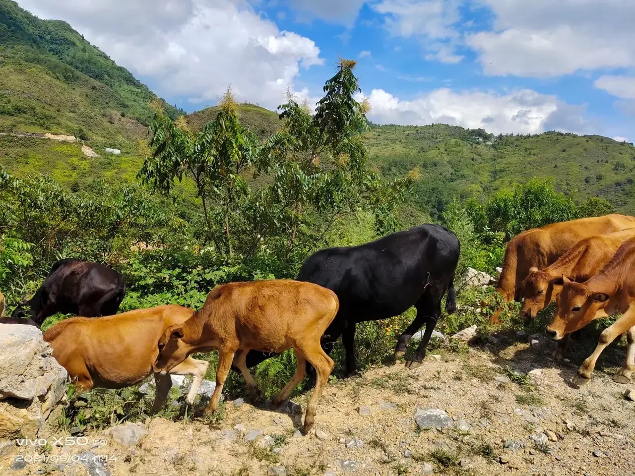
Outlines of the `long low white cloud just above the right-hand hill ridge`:
{"label": "long low white cloud just above the right-hand hill ridge", "polygon": [[[362,96],[364,97],[364,96]],[[547,130],[589,133],[597,125],[584,119],[584,106],[568,105],[554,96],[531,89],[508,94],[435,89],[413,100],[401,100],[383,89],[373,89],[369,119],[380,124],[422,126],[445,123],[483,128],[490,133],[535,134]]]}

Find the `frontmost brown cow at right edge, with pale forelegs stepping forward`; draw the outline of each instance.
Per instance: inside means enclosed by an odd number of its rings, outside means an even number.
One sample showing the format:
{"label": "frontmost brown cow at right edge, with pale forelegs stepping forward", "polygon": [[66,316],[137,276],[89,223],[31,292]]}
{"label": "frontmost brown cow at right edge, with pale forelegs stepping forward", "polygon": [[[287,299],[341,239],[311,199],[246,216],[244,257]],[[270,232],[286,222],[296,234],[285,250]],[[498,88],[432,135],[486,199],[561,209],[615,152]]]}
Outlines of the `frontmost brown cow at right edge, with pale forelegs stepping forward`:
{"label": "frontmost brown cow at right edge, with pale forelegs stepping forward", "polygon": [[599,355],[618,336],[627,333],[628,349],[624,367],[615,374],[617,383],[627,383],[635,371],[635,238],[624,242],[615,256],[585,282],[570,281],[563,277],[563,288],[556,302],[558,310],[547,326],[547,334],[561,340],[594,319],[622,313],[615,323],[607,327],[598,340],[598,346],[578,369],[575,383],[583,385],[596,366]]}

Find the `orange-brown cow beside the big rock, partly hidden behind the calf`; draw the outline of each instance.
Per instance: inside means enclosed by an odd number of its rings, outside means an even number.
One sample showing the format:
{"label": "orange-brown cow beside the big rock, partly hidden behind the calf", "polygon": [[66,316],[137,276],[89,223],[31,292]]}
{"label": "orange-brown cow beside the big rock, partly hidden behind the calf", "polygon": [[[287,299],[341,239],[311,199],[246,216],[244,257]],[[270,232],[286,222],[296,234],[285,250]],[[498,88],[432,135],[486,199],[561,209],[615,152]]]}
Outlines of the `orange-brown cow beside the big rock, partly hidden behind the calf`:
{"label": "orange-brown cow beside the big rock, partly hidden behind the calf", "polygon": [[[123,388],[143,381],[152,373],[159,355],[157,341],[170,326],[192,317],[192,309],[167,305],[138,309],[100,319],[71,317],[44,332],[53,357],[66,369],[80,392],[91,388]],[[171,374],[192,375],[187,394],[192,404],[209,362],[188,357],[170,369]],[[169,374],[154,374],[156,395],[152,413],[161,409],[172,387]]]}

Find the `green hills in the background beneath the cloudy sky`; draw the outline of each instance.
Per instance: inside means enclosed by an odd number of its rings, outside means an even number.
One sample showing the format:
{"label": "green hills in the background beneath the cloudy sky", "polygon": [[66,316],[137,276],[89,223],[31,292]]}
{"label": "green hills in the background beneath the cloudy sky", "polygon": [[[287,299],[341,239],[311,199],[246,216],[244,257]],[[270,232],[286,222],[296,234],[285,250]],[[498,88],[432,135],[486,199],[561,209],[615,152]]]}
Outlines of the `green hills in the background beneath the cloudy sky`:
{"label": "green hills in the background beneath the cloudy sky", "polygon": [[[69,187],[105,176],[134,180],[143,159],[150,102],[166,104],[128,70],[88,43],[67,23],[39,20],[0,0],[0,166],[11,173],[51,173]],[[280,126],[276,112],[248,103],[239,116],[262,138]],[[217,107],[187,116],[193,130],[214,119]],[[25,133],[75,135],[60,143]],[[544,133],[493,136],[457,126],[374,126],[366,133],[373,166],[385,176],[418,168],[420,179],[404,213],[410,221],[438,216],[453,197],[484,198],[533,176],[554,178],[561,192],[605,197],[635,213],[635,148],[601,136]],[[86,157],[82,145],[100,157]],[[105,154],[105,147],[122,155]]]}

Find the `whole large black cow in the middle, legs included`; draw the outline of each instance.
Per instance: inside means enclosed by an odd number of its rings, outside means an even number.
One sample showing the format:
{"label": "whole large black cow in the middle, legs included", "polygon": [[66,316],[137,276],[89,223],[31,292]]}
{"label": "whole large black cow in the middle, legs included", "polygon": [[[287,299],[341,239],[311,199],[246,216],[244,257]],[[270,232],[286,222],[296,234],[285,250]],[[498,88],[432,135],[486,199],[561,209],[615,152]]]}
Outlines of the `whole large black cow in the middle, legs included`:
{"label": "whole large black cow in the middle, legs included", "polygon": [[[456,310],[453,281],[459,253],[460,243],[448,228],[419,225],[361,246],[328,248],[309,256],[298,281],[331,289],[340,300],[340,310],[322,338],[326,353],[341,335],[347,374],[354,373],[356,324],[389,319],[414,306],[417,317],[399,336],[395,358],[406,354],[412,334],[425,324],[417,352],[406,362],[410,369],[420,366],[446,292],[446,312]],[[272,355],[251,350],[246,363],[255,366]]]}

